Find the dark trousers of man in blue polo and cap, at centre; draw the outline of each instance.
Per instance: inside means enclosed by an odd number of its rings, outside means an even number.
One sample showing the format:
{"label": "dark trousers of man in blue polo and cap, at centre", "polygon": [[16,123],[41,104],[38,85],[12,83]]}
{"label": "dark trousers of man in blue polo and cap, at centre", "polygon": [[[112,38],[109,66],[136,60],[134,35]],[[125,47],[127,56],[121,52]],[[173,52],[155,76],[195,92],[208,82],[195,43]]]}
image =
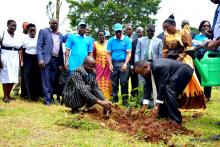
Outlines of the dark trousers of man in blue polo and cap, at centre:
{"label": "dark trousers of man in blue polo and cap, at centre", "polygon": [[113,73],[111,74],[112,79],[112,102],[118,102],[118,90],[119,80],[121,85],[121,95],[123,104],[128,101],[128,79],[129,79],[129,65],[125,72],[122,72],[121,68],[124,62],[113,62]]}

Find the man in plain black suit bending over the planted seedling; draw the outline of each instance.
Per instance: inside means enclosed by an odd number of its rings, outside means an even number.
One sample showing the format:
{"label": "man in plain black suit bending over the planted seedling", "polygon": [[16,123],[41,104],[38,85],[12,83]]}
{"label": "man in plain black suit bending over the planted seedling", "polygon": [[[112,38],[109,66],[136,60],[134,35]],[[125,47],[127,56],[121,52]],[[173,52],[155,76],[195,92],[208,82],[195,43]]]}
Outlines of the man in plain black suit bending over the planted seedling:
{"label": "man in plain black suit bending over the planted seedling", "polygon": [[151,116],[156,118],[159,114],[181,124],[182,116],[178,110],[177,97],[191,80],[193,69],[180,61],[161,58],[152,62],[138,61],[134,64],[134,70],[145,79],[143,107],[139,114],[143,113],[149,104],[153,77],[157,87],[157,100]]}

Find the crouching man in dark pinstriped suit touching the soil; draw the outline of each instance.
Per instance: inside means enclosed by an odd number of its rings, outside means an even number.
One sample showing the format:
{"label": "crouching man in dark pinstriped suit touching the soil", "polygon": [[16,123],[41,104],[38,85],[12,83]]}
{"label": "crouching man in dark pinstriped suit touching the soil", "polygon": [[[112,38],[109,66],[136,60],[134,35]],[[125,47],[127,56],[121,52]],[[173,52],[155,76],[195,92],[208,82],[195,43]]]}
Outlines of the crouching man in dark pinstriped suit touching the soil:
{"label": "crouching man in dark pinstriped suit touching the soil", "polygon": [[73,71],[63,90],[63,103],[79,113],[82,107],[89,109],[94,104],[104,108],[104,115],[111,111],[112,104],[105,100],[96,82],[95,60],[91,56],[84,59],[83,65]]}

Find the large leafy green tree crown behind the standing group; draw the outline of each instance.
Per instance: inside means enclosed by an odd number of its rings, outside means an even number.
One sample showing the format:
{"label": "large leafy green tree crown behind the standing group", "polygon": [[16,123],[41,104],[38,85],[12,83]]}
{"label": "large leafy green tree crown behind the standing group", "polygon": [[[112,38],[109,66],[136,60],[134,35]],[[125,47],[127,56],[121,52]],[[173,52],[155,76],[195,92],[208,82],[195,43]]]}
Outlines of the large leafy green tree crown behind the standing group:
{"label": "large leafy green tree crown behind the standing group", "polygon": [[161,0],[66,0],[70,4],[68,15],[72,27],[80,20],[90,25],[93,33],[97,28],[107,29],[112,33],[115,23],[131,23],[134,27],[144,27],[155,23],[150,15],[155,15]]}

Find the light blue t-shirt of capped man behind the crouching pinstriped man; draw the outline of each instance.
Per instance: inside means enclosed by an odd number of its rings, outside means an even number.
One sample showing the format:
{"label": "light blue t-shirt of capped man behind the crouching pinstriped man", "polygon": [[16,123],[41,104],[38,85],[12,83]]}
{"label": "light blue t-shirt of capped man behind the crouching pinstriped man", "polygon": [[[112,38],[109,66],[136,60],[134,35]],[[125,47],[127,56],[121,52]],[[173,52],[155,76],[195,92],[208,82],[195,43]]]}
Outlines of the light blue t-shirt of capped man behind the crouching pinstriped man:
{"label": "light blue t-shirt of capped man behind the crouching pinstriped man", "polygon": [[70,72],[82,65],[85,57],[88,56],[89,52],[92,52],[92,40],[85,35],[71,34],[65,46],[70,49]]}

